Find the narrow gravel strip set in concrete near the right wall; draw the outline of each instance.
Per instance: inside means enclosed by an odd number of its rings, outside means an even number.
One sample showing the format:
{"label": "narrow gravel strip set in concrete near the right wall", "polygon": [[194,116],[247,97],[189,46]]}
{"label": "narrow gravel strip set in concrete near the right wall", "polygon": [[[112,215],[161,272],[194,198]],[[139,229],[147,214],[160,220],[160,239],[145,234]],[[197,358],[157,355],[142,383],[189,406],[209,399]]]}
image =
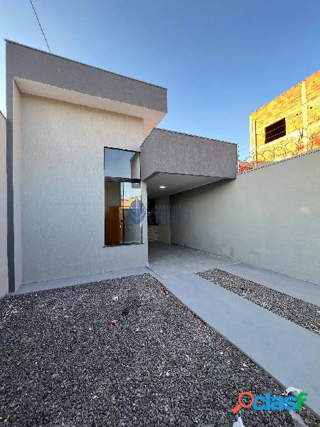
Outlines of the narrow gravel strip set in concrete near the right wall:
{"label": "narrow gravel strip set in concrete near the right wall", "polygon": [[276,315],[320,334],[320,307],[215,268],[197,273]]}

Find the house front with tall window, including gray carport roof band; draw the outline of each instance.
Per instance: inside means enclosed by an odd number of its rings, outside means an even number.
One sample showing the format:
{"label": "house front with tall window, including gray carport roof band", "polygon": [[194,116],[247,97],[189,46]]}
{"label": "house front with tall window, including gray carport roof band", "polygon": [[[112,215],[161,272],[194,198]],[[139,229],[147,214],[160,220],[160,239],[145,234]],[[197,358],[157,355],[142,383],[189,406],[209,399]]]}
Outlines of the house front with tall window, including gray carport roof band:
{"label": "house front with tall window, including gray carport roof band", "polygon": [[236,144],[154,130],[166,112],[165,88],[6,41],[9,292],[148,265],[147,187],[235,178]]}

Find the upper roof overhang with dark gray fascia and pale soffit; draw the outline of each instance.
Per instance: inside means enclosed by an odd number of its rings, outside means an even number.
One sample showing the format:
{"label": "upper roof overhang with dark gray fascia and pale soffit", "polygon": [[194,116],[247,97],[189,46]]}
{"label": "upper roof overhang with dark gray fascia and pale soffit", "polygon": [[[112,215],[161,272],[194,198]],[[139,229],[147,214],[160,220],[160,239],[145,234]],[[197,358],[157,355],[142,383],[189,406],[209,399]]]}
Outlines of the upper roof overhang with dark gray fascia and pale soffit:
{"label": "upper roof overhang with dark gray fascia and pale soffit", "polygon": [[144,120],[144,135],[167,112],[167,90],[6,41],[6,83],[23,93],[49,97]]}

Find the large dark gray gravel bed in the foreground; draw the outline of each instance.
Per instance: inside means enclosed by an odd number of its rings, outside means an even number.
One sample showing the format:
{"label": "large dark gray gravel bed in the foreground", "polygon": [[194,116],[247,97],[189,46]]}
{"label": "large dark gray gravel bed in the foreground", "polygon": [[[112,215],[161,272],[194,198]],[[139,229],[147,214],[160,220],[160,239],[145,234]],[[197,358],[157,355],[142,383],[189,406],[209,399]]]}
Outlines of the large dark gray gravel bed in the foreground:
{"label": "large dark gray gravel bed in the foreground", "polygon": [[[241,391],[283,391],[150,275],[5,297],[0,341],[9,426],[231,427]],[[238,415],[294,426],[287,411]]]}

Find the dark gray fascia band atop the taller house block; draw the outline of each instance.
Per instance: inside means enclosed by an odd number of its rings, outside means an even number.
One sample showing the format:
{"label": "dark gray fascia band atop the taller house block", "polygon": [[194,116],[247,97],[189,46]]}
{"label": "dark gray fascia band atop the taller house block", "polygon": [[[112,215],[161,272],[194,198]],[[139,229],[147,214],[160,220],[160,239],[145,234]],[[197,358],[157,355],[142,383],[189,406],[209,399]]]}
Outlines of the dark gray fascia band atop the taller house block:
{"label": "dark gray fascia band atop the taller house block", "polygon": [[7,76],[107,98],[156,111],[167,111],[166,89],[61,58],[18,43],[6,43]]}

